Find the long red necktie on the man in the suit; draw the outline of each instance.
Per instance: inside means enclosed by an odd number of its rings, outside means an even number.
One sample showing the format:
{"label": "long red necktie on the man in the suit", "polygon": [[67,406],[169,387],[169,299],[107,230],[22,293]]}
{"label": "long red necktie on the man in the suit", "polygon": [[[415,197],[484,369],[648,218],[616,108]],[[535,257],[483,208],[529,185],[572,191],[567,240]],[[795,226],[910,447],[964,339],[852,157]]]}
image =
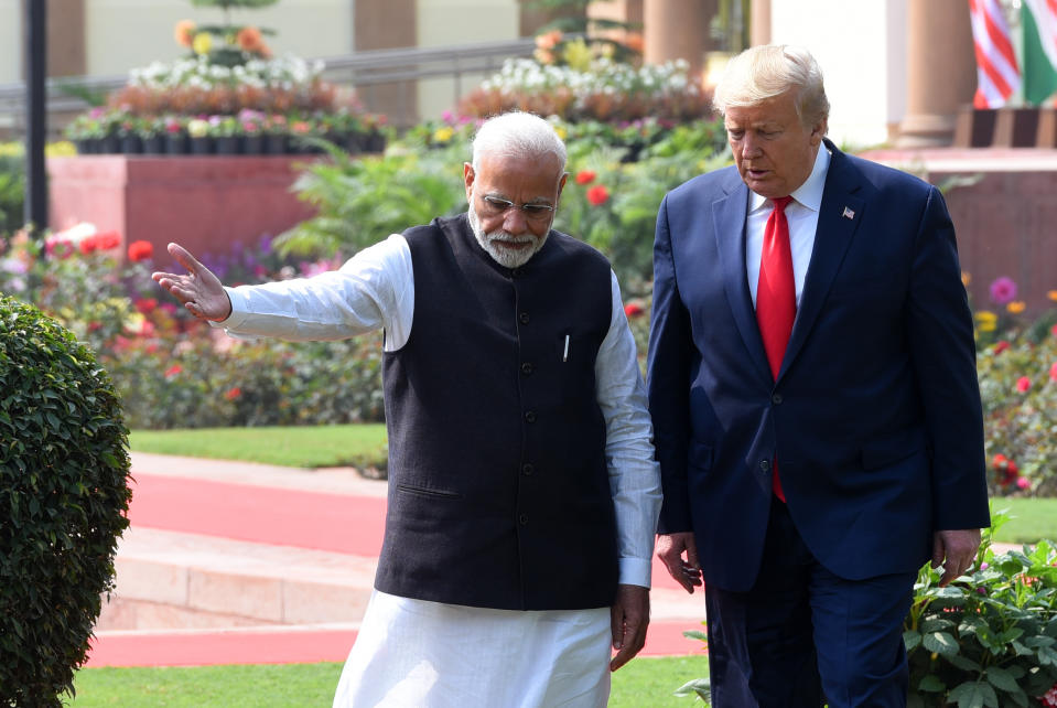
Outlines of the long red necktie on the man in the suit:
{"label": "long red necktie on the man in the suit", "polygon": [[[792,250],[789,247],[789,222],[785,208],[791,196],[773,199],[775,207],[764,228],[764,248],[759,255],[759,282],[756,286],[756,322],[764,339],[764,351],[770,373],[778,378],[786,345],[792,333],[797,317],[797,286],[792,277]],[[786,495],[778,480],[778,461],[775,460],[772,489],[783,502]]]}

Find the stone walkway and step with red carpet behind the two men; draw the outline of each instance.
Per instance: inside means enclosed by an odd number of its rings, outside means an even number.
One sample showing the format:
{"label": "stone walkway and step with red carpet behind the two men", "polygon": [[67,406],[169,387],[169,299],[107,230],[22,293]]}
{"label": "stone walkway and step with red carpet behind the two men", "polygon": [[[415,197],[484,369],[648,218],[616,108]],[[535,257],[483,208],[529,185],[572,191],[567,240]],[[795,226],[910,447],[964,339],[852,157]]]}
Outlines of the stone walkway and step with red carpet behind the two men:
{"label": "stone walkway and step with red carpet behind the two men", "polygon": [[[87,666],[344,661],[370,597],[386,482],[132,453],[130,528]],[[644,656],[695,654],[702,593],[655,559]]]}

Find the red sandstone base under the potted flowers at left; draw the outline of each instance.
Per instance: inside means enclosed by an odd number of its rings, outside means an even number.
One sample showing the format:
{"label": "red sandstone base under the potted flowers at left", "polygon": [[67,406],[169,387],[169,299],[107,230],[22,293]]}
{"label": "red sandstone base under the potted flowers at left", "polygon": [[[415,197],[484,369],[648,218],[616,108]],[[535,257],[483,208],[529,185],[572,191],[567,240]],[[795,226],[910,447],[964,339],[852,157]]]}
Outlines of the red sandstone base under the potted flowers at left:
{"label": "red sandstone base under the potted flowers at left", "polygon": [[[313,215],[290,191],[310,155],[78,155],[47,160],[53,230],[78,222],[116,230],[123,245],[222,255]],[[122,247],[121,253],[125,253]]]}

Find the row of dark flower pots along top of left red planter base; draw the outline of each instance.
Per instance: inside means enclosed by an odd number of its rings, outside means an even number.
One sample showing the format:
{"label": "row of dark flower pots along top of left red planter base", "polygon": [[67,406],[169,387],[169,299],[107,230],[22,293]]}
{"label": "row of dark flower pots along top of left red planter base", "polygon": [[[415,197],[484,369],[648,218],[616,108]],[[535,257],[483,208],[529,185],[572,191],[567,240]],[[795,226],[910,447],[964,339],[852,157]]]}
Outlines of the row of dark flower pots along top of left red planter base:
{"label": "row of dark flower pots along top of left red planter base", "polygon": [[75,118],[65,136],[82,154],[289,154],[319,150],[326,139],[348,152],[385,149],[385,117],[353,111],[139,116],[95,108]]}

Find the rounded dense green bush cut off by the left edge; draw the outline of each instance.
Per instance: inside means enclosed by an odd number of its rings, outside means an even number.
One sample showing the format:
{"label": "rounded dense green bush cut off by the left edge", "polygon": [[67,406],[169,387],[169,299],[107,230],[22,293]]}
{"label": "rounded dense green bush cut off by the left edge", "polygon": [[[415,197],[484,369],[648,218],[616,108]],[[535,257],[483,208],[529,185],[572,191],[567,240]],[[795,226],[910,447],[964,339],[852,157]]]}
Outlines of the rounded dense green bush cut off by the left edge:
{"label": "rounded dense green bush cut off by the left edge", "polygon": [[129,458],[106,372],[0,296],[0,705],[60,706],[128,526]]}

